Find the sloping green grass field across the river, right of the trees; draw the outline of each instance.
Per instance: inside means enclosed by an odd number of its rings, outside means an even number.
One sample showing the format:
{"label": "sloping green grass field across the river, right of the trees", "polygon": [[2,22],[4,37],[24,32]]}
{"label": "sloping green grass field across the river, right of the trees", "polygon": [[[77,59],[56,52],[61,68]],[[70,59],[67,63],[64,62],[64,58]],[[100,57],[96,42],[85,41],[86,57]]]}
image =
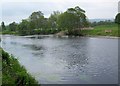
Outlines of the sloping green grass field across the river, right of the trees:
{"label": "sloping green grass field across the river, right of the trees", "polygon": [[[111,25],[99,25],[93,27],[93,30],[82,30],[80,33],[83,36],[116,36],[120,37],[118,34],[118,25],[111,24]],[[111,30],[112,32],[106,33],[105,30]]]}

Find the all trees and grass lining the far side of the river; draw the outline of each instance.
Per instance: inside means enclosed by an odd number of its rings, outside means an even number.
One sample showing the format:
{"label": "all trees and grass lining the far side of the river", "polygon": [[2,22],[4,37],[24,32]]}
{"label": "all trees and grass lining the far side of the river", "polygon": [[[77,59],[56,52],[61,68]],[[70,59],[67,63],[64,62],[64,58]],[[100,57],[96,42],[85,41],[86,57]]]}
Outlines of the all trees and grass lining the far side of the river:
{"label": "all trees and grass lining the far side of the river", "polygon": [[[116,23],[116,24],[115,24]],[[120,14],[118,13],[114,21],[100,21],[90,23],[85,10],[79,6],[68,8],[65,12],[54,11],[49,18],[45,18],[41,11],[33,12],[27,19],[20,23],[12,22],[9,25],[1,23],[1,34],[12,35],[48,35],[59,32],[66,32],[65,35],[85,36],[85,35],[108,35],[119,36],[117,24],[120,24]],[[89,29],[92,27],[93,29]],[[82,28],[88,28],[82,30]],[[105,30],[111,30],[106,32]]]}

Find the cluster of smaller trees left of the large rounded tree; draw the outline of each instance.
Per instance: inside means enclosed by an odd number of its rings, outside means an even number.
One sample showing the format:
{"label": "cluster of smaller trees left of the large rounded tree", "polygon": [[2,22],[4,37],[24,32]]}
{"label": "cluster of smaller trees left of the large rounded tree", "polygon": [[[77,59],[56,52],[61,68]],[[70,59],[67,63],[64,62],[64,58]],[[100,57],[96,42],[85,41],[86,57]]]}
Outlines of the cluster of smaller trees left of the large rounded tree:
{"label": "cluster of smaller trees left of the large rounded tree", "polygon": [[33,12],[27,19],[20,23],[12,22],[9,25],[1,23],[1,30],[4,32],[14,32],[19,35],[52,34],[58,31],[57,19],[61,13],[54,11],[49,18],[45,18],[41,11]]}

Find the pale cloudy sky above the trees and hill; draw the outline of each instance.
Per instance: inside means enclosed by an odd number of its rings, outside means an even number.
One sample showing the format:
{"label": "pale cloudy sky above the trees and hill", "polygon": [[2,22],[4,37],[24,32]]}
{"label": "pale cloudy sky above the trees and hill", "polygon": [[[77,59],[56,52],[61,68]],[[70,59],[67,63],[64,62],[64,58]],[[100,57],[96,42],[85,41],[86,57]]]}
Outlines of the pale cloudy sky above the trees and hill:
{"label": "pale cloudy sky above the trees and hill", "polygon": [[42,11],[49,17],[53,11],[64,12],[79,6],[86,11],[88,19],[111,19],[118,13],[119,0],[0,0],[0,21],[5,24],[21,22],[32,12]]}

